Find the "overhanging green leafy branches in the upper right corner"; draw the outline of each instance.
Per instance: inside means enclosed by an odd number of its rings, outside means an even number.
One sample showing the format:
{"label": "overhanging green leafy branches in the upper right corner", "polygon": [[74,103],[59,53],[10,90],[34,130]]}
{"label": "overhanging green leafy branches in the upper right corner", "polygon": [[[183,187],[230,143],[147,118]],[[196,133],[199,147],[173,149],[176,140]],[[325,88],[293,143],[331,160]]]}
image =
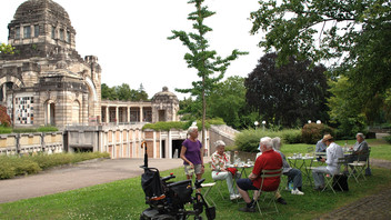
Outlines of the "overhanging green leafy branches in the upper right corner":
{"label": "overhanging green leafy branches in the upper right corner", "polygon": [[353,88],[365,86],[365,102],[391,88],[391,1],[267,0],[251,12],[252,33],[265,31],[259,46],[274,49],[279,63],[290,56],[313,62],[335,59],[335,74]]}

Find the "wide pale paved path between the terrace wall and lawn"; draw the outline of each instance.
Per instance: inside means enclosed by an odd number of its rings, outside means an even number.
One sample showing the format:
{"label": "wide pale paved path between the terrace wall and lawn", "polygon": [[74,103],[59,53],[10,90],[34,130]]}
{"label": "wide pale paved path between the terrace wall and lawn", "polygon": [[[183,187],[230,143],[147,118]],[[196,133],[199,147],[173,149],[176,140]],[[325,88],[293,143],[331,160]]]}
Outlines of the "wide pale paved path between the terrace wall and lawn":
{"label": "wide pale paved path between the terrace wall and lawn", "polygon": [[[53,194],[141,176],[143,159],[100,159],[0,181],[0,203]],[[179,168],[181,159],[149,159],[159,170]]]}

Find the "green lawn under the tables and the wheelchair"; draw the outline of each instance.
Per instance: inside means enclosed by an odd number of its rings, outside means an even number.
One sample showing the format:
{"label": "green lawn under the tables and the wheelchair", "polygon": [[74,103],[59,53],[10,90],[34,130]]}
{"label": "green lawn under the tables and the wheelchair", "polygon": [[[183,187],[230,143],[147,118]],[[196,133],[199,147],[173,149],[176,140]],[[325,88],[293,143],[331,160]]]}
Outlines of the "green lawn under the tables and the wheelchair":
{"label": "green lawn under the tables and the wheelchair", "polygon": [[[350,141],[348,143],[350,144]],[[375,143],[372,140],[369,140],[369,143],[372,146],[372,158],[390,154],[387,151],[387,148],[391,147],[390,144]],[[287,156],[294,152],[304,153],[307,147],[309,144],[285,144],[282,151]],[[383,158],[389,157],[384,156]],[[186,179],[182,168],[162,171],[161,176],[168,176],[170,172],[177,176],[177,181]],[[203,177],[207,182],[212,181],[210,169],[207,169]],[[142,210],[148,207],[144,203],[144,193],[140,182],[141,179],[138,177],[40,198],[2,203],[0,204],[0,219],[139,219]],[[222,187],[222,192],[228,198],[227,184],[223,183]],[[372,167],[372,176],[368,177],[367,181],[355,183],[353,179],[349,180],[349,192],[334,194],[331,190],[328,190],[320,193],[308,186],[303,187],[304,196],[292,196],[282,191],[282,197],[289,204],[278,204],[280,214],[262,218],[314,219],[360,198],[377,193],[384,187],[391,187],[391,170]],[[215,193],[215,189],[212,189],[212,192],[214,193],[211,193],[211,198],[217,203],[217,219],[260,219],[259,213],[239,212],[238,208],[243,204],[221,200],[220,196]]]}

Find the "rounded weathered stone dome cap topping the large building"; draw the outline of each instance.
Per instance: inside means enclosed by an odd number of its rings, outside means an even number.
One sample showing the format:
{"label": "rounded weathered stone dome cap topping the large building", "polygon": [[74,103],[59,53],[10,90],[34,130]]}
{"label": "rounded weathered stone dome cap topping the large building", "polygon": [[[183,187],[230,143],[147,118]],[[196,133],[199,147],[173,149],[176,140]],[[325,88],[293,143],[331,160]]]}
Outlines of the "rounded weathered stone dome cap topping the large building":
{"label": "rounded weathered stone dome cap topping the large building", "polygon": [[48,22],[62,23],[74,32],[68,12],[52,0],[28,0],[20,4],[9,27],[20,23]]}

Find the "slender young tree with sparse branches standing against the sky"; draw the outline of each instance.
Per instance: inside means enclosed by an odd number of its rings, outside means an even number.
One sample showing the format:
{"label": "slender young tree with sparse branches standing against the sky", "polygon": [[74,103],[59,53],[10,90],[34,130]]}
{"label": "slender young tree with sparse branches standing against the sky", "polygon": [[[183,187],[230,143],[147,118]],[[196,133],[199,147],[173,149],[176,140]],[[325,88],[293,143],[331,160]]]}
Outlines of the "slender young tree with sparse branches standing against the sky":
{"label": "slender young tree with sparse branches standing against the sky", "polygon": [[[190,93],[196,96],[198,100],[202,100],[202,137],[204,136],[204,121],[207,116],[207,101],[205,96],[212,90],[213,83],[220,81],[228,66],[232,60],[235,60],[240,54],[247,54],[247,52],[240,52],[233,50],[230,56],[222,59],[217,56],[214,50],[208,50],[209,44],[205,39],[205,34],[212,31],[211,28],[203,23],[204,19],[213,16],[215,12],[209,11],[208,7],[203,7],[204,0],[190,0],[188,3],[193,3],[196,11],[189,13],[188,20],[193,21],[193,29],[197,33],[173,30],[172,37],[169,40],[179,39],[182,43],[190,50],[190,52],[184,54],[184,60],[189,68],[196,68],[198,71],[198,77],[200,81],[192,82],[193,88],[190,89],[176,89],[178,92]],[[218,76],[213,76],[218,73]],[[202,144],[204,146],[204,140],[202,139]]]}

